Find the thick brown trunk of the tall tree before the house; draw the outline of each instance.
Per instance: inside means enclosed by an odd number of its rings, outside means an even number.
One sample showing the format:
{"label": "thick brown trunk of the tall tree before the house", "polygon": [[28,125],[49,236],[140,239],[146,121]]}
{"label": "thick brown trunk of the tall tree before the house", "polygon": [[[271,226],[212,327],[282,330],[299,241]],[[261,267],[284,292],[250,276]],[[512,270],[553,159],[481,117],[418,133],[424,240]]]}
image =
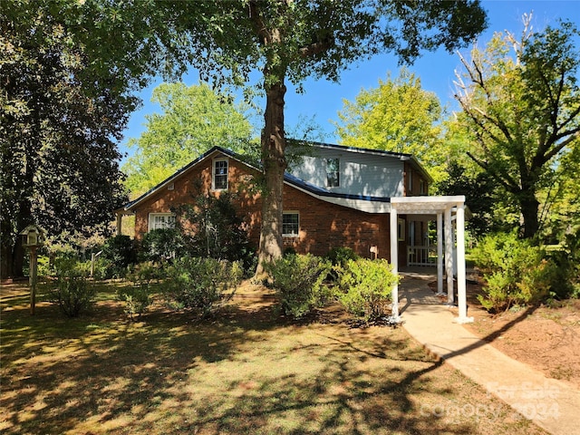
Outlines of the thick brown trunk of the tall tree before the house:
{"label": "thick brown trunk of the tall tree before the house", "polygon": [[262,162],[265,188],[262,191],[262,228],[256,275],[264,264],[282,256],[282,191],[284,189],[284,79],[266,88],[266,125],[262,132]]}

